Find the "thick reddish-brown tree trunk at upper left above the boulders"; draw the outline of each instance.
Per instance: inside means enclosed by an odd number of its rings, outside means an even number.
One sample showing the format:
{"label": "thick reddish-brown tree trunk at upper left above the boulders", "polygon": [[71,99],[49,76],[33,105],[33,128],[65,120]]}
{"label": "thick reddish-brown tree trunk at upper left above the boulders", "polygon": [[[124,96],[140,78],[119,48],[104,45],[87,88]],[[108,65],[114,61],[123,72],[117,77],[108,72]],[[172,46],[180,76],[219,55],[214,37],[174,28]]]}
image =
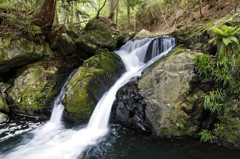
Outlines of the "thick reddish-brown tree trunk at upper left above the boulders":
{"label": "thick reddish-brown tree trunk at upper left above the boulders", "polygon": [[56,9],[57,0],[37,0],[33,15],[34,24],[40,26],[42,30],[51,29]]}

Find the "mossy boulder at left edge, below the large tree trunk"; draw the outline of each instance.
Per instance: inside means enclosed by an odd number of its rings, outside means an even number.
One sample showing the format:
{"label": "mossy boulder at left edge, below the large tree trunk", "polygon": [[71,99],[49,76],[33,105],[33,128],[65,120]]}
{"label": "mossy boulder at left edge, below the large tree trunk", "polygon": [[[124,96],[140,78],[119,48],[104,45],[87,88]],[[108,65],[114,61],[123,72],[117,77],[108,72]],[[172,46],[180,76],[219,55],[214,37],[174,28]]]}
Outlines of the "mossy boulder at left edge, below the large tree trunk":
{"label": "mossy boulder at left edge, below the large tree trunk", "polygon": [[52,51],[43,40],[34,42],[23,37],[0,38],[0,73],[20,67],[49,56]]}

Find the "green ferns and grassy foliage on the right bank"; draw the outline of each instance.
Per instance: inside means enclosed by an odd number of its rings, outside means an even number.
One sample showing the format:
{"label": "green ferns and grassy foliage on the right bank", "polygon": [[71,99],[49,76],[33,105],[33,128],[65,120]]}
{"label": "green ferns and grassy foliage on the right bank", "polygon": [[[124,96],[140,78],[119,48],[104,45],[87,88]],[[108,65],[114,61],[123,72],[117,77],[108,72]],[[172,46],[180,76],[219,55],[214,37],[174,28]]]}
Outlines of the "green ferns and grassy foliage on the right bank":
{"label": "green ferns and grassy foliage on the right bank", "polygon": [[213,130],[202,130],[199,135],[201,140],[211,141],[212,135],[220,135],[224,128],[224,121],[229,110],[240,101],[240,58],[239,41],[237,36],[240,29],[237,27],[223,26],[214,28],[215,36],[211,43],[218,45],[219,50],[215,57],[209,55],[197,56],[195,65],[202,77],[215,81],[212,90],[201,97],[201,104],[205,110],[218,119]]}

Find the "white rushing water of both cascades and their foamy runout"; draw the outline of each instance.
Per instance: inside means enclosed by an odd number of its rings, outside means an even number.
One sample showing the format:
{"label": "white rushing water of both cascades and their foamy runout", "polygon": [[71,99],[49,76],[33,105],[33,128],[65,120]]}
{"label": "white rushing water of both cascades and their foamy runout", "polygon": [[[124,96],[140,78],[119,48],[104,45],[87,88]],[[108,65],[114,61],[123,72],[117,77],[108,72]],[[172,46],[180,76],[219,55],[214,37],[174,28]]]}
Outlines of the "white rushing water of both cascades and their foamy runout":
{"label": "white rushing water of both cascades and their foamy runout", "polygon": [[[122,58],[126,72],[98,102],[88,125],[79,130],[66,129],[61,123],[64,87],[55,101],[49,122],[33,131],[33,139],[23,141],[2,159],[76,159],[89,145],[97,144],[108,132],[108,122],[117,91],[133,77],[165,56],[175,45],[171,37],[129,41],[116,53]],[[150,50],[150,53],[149,53]],[[147,58],[148,57],[148,58]],[[147,60],[150,59],[150,60]],[[25,144],[26,143],[26,144]]]}

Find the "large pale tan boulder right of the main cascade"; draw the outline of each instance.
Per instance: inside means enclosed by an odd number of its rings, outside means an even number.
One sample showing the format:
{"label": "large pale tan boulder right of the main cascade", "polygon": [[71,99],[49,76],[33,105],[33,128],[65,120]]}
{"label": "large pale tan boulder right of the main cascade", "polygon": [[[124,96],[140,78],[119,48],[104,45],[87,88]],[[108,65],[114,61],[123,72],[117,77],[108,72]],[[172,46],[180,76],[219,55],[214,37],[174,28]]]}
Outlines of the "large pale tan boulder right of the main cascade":
{"label": "large pale tan boulder right of the main cascade", "polygon": [[183,137],[196,132],[197,125],[187,110],[193,110],[196,100],[189,92],[195,76],[193,59],[198,54],[175,49],[139,80],[139,92],[147,104],[146,120],[154,136]]}

